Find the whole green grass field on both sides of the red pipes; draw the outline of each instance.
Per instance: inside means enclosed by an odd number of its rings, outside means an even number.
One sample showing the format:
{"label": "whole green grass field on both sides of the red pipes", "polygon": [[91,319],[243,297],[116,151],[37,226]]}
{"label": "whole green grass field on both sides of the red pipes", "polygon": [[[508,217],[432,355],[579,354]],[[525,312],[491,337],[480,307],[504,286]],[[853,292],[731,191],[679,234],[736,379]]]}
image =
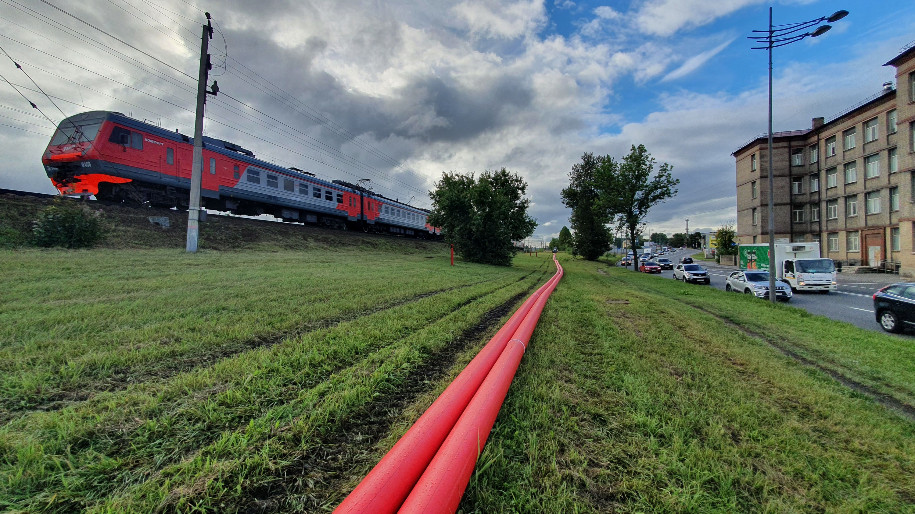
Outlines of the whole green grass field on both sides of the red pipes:
{"label": "whole green grass field on both sides of the red pipes", "polygon": [[[333,509],[554,271],[431,248],[0,253],[0,506]],[[908,340],[560,255],[462,512],[915,512]]]}

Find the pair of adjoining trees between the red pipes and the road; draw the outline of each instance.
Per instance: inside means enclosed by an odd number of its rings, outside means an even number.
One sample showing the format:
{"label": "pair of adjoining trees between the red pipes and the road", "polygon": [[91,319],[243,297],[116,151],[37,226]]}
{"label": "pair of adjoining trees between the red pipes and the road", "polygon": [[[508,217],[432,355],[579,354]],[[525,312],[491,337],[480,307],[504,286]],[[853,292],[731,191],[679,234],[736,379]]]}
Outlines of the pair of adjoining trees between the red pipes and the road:
{"label": "pair of adjoining trees between the red pipes and the road", "polygon": [[572,209],[573,254],[597,259],[609,249],[613,233],[622,233],[630,248],[638,247],[642,220],[652,206],[677,194],[680,184],[671,174],[673,166],[662,163],[655,171],[656,164],[642,144],[632,145],[619,161],[610,155],[582,155],[562,192],[563,204]]}

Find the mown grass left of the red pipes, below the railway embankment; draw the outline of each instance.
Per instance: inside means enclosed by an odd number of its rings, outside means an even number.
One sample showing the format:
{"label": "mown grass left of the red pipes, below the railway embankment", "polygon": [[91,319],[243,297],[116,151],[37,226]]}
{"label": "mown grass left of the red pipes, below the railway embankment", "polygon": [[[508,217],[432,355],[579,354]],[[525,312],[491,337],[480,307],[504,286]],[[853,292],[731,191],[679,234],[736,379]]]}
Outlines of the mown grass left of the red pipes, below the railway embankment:
{"label": "mown grass left of the red pipes, below the railway embankment", "polygon": [[[13,413],[0,428],[0,505],[10,511],[244,511],[259,490],[300,473],[302,459],[366,404],[547,276],[545,259],[526,268],[449,267],[444,258],[381,253],[4,257],[42,291],[5,284],[15,293],[5,316],[16,323],[5,328],[3,348],[18,372],[7,395],[30,393],[28,379],[48,389],[75,378],[92,385],[116,366],[180,359],[163,339],[202,353],[226,341],[280,339],[57,411]],[[79,277],[59,269],[90,263],[92,273]],[[98,289],[107,294],[81,298]],[[347,312],[363,315],[295,331]],[[68,367],[74,361],[96,365]],[[60,372],[68,369],[80,372]]]}

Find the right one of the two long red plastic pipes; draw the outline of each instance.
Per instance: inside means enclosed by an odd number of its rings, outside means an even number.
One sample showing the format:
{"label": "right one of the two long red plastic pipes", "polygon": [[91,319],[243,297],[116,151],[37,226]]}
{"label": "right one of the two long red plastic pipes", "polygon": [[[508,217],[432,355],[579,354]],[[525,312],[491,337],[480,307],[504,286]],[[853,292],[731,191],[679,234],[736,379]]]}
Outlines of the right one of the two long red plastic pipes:
{"label": "right one of the two long red plastic pipes", "polygon": [[[555,257],[553,259],[555,261]],[[458,423],[425,468],[404,505],[397,511],[398,514],[454,514],[458,510],[460,498],[464,495],[477,459],[486,445],[496,416],[499,415],[533,329],[537,326],[546,300],[559,278],[562,278],[563,269],[558,262],[556,267],[556,277],[547,283],[548,288],[524,317],[518,330],[515,330],[499,360],[480,384]]]}

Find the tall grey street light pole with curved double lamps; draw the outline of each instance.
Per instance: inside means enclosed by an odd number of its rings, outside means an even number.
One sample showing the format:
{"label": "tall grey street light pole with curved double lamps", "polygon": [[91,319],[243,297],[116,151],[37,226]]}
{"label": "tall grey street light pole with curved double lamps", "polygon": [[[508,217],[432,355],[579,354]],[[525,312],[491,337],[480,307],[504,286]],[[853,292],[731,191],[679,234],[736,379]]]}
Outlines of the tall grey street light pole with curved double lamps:
{"label": "tall grey street light pole with curved double lamps", "polygon": [[[752,47],[752,49],[769,50],[769,145],[767,148],[769,152],[769,169],[767,170],[767,173],[769,173],[769,299],[772,303],[776,303],[778,301],[777,295],[775,294],[776,274],[778,274],[778,270],[773,267],[775,261],[775,173],[772,170],[772,48],[784,47],[785,45],[790,45],[791,43],[801,41],[805,37],[821,36],[827,30],[832,28],[832,26],[818,25],[824,21],[832,23],[844,18],[845,16],[848,16],[848,11],[835,11],[832,16],[823,16],[810,21],[782,25],[780,28],[774,28],[774,26],[772,26],[772,8],[770,7],[769,30],[753,31],[765,32],[766,36],[748,37],[748,39],[753,39],[757,43],[765,43],[766,45],[765,47]],[[815,30],[813,30],[813,32],[797,34],[798,32],[813,26],[818,26]]]}

